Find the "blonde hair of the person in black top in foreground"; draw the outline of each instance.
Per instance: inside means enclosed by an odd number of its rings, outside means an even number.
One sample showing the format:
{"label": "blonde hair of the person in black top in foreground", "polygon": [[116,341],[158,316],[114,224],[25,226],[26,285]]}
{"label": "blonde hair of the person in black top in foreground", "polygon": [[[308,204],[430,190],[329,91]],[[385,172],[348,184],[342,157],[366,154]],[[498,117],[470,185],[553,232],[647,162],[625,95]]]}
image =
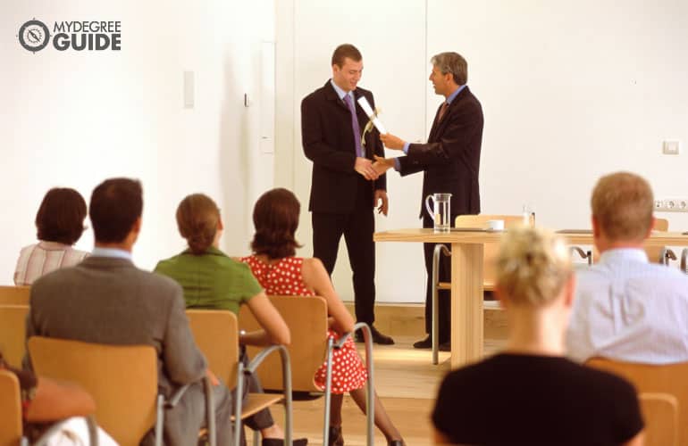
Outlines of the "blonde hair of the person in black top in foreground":
{"label": "blonde hair of the person in black top in foreground", "polygon": [[573,274],[564,239],[538,227],[509,229],[499,244],[497,285],[517,305],[554,301]]}

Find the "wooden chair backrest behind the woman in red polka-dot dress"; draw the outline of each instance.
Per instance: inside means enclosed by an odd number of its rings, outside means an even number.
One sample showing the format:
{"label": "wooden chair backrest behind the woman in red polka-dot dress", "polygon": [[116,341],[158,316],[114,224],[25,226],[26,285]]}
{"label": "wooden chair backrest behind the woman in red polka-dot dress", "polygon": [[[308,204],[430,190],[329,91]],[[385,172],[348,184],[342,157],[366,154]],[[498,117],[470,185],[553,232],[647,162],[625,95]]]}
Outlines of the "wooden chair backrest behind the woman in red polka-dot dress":
{"label": "wooden chair backrest behind the woman in red polka-dot dress", "polygon": [[[323,297],[270,296],[275,308],[289,326],[291,344],[288,347],[291,362],[291,386],[294,392],[321,392],[315,385],[315,372],[323,365],[327,349],[327,302]],[[252,331],[260,329],[248,305],[239,311],[239,327]],[[252,358],[259,351],[248,348]],[[264,389],[281,390],[281,362],[270,355],[258,368]]]}

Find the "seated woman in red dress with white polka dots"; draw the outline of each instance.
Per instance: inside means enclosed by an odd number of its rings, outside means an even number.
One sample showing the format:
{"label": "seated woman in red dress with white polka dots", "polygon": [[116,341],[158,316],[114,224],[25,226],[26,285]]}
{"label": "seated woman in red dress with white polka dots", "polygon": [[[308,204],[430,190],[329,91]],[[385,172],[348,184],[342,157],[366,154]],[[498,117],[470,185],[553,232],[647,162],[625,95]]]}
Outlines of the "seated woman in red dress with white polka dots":
{"label": "seated woman in red dress with white polka dots", "polygon": [[[251,242],[253,255],[242,259],[251,267],[253,274],[268,294],[320,295],[327,301],[331,317],[330,336],[335,340],[354,327],[354,320],[332,287],[330,276],[323,262],[311,258],[295,257],[299,247],[294,234],[298,227],[300,204],[286,189],[273,189],[256,202],[253,222],[256,235]],[[325,334],[323,333],[323,336]],[[318,354],[315,352],[314,354]],[[342,445],[341,404],[348,392],[358,407],[365,412],[365,382],[367,374],[358,356],[355,344],[349,337],[344,347],[334,351],[332,363],[332,399],[329,445]],[[315,383],[325,388],[326,368],[323,364],[315,374]],[[375,395],[375,425],[390,445],[404,444],[401,434]]]}

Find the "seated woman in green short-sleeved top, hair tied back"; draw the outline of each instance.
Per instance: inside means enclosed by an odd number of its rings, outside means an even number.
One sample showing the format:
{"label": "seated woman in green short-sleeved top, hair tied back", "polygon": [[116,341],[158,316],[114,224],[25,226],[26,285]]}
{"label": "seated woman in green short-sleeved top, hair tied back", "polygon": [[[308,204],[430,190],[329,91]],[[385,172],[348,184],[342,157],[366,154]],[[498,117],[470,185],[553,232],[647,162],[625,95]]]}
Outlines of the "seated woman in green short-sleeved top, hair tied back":
{"label": "seated woman in green short-sleeved top, hair tied back", "polygon": [[[155,272],[172,277],[184,290],[187,308],[230,310],[239,314],[239,306],[247,304],[264,330],[240,335],[239,342],[251,345],[289,343],[289,327],[273,307],[251,270],[220,251],[222,219],[215,202],[204,194],[184,198],[177,208],[177,226],[189,248],[171,259],[160,261]],[[248,364],[242,349],[241,360]],[[262,392],[255,376],[248,378],[247,393]],[[253,430],[260,430],[263,444],[282,444],[284,433],[274,424],[268,409],[244,420]],[[294,444],[306,444],[296,440]]]}

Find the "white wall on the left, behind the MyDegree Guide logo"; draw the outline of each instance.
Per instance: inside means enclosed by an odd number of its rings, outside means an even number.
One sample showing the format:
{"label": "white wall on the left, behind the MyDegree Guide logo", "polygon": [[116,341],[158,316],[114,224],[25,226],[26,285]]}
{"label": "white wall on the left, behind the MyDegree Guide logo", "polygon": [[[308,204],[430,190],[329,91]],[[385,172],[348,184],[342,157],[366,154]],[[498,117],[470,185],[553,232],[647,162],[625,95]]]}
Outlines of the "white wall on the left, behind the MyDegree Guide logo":
{"label": "white wall on the left, behind the MyDegree Guide logo", "polygon": [[[15,36],[33,17],[122,21],[122,51],[31,54]],[[88,202],[113,176],[144,186],[140,267],[183,247],[174,210],[194,192],[222,208],[223,247],[248,252],[250,210],[273,184],[273,154],[258,145],[260,48],[274,38],[273,21],[273,0],[0,4],[0,283],[11,283],[17,253],[35,240],[48,188],[74,187]],[[191,110],[182,107],[184,70],[196,75]],[[90,230],[77,246],[91,249]]]}

